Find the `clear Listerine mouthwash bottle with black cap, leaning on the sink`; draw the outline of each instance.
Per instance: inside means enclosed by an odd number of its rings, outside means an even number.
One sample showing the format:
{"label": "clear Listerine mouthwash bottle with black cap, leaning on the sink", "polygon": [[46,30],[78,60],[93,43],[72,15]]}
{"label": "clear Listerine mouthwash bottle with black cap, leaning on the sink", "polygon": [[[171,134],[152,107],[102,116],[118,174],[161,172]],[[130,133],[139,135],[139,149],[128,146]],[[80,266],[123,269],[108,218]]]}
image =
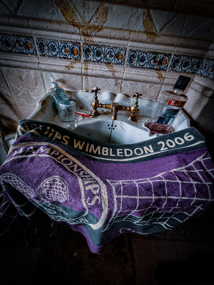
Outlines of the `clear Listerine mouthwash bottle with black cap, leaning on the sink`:
{"label": "clear Listerine mouthwash bottle with black cap, leaning on the sink", "polygon": [[182,94],[191,78],[180,75],[173,91],[163,91],[158,97],[158,104],[152,113],[147,127],[153,133],[167,134],[181,108],[186,104],[188,97]]}

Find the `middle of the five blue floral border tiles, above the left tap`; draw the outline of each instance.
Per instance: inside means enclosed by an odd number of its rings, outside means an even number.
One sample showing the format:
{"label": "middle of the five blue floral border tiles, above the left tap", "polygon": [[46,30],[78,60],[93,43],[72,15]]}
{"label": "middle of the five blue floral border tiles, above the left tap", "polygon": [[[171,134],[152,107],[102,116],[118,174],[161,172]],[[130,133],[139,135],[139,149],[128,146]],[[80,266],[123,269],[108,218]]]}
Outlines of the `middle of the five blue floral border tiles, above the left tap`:
{"label": "middle of the five blue floral border tiles, above the left tap", "polygon": [[83,45],[83,59],[114,64],[124,64],[126,49]]}

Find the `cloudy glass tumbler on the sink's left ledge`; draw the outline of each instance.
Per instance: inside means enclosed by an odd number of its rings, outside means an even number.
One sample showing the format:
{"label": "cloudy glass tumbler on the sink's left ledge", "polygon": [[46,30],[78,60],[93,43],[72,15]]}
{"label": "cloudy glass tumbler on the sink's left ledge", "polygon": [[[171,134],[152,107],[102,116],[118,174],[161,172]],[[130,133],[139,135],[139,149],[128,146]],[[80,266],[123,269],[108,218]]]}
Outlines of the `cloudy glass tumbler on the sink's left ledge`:
{"label": "cloudy glass tumbler on the sink's left ledge", "polygon": [[69,101],[68,104],[63,104],[58,102],[58,109],[59,109],[59,117],[63,123],[74,122],[76,102]]}

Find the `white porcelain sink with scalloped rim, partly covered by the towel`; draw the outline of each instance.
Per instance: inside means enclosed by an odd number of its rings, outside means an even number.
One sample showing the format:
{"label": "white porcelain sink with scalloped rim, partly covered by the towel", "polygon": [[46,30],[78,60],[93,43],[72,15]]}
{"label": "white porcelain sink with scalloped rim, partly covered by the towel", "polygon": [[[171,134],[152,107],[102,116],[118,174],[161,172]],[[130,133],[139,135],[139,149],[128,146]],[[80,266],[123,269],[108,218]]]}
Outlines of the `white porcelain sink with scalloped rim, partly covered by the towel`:
{"label": "white porcelain sink with scalloped rim, partly covered by the towel", "polygon": [[[90,106],[90,102],[93,99],[91,92],[66,89],[65,91],[69,98],[76,102],[76,112],[91,113],[92,107]],[[130,106],[134,102],[134,98],[122,93],[116,95],[111,92],[104,92],[97,95],[99,102],[103,104],[117,102],[120,105]],[[146,127],[147,120],[151,116],[156,104],[156,101],[148,98],[139,99],[139,111],[136,113],[137,122],[128,120],[128,115],[130,114],[128,111],[118,111],[117,120],[112,121],[112,114],[109,110],[97,108],[100,113],[98,117],[85,117],[76,114],[75,123],[64,124],[60,121],[52,95],[47,93],[37,102],[36,110],[28,119],[53,123],[101,142],[131,144],[161,135],[151,134],[150,130]],[[175,119],[171,131],[176,132],[188,127],[190,127],[190,120],[187,115],[181,111]]]}

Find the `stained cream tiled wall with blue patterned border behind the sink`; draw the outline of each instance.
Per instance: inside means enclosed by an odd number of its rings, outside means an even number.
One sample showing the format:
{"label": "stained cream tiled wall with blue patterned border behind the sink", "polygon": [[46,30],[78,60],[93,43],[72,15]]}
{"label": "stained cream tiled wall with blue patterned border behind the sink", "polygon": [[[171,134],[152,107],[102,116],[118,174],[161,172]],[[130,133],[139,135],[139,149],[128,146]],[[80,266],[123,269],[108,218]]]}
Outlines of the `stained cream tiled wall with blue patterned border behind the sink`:
{"label": "stained cream tiled wall with blue patterned border behind the sink", "polygon": [[[114,2],[114,3],[113,3]],[[169,2],[169,1],[168,1]],[[0,5],[3,123],[16,129],[48,91],[46,72],[73,90],[157,99],[180,73],[192,78],[185,109],[194,119],[212,99],[214,19],[207,1],[9,1]],[[203,2],[203,1],[202,1]],[[179,6],[180,4],[180,6]],[[90,90],[89,90],[90,91]],[[200,124],[202,124],[200,119]],[[212,124],[210,124],[211,128]]]}

